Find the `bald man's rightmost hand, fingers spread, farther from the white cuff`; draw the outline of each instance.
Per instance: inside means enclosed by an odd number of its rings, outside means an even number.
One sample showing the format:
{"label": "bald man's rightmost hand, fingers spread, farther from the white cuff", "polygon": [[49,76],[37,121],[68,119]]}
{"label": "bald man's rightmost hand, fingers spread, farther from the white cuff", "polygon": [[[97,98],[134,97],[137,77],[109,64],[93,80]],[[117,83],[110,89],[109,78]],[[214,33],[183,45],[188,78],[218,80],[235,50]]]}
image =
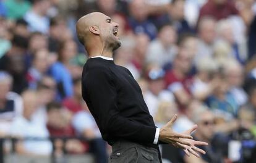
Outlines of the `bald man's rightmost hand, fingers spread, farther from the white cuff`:
{"label": "bald man's rightmost hand, fingers spread, farther from the white cuff", "polygon": [[[194,127],[190,128],[184,134],[190,135],[192,132],[197,130],[197,125],[194,125]],[[180,146],[182,146],[183,150],[187,154],[187,156],[190,156],[190,154],[193,154],[197,157],[200,157],[200,154],[205,154],[205,151],[203,151],[200,148],[197,148],[197,146],[207,146],[208,144],[203,142],[203,141],[195,141],[192,139],[187,139],[187,138],[180,138],[181,140],[187,141],[190,143],[190,146],[187,146],[186,144],[181,144],[179,143]]]}

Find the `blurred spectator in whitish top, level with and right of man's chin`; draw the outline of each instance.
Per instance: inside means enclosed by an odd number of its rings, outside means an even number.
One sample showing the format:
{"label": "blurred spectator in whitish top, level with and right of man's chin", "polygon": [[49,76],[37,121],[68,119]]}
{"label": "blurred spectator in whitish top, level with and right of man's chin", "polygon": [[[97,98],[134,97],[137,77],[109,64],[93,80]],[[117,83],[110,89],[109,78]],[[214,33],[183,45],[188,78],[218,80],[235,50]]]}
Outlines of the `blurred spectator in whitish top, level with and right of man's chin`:
{"label": "blurred spectator in whitish top, level with and right of man's chin", "polygon": [[163,67],[167,62],[172,62],[177,53],[176,30],[171,25],[160,28],[158,37],[148,46],[146,62],[155,62]]}

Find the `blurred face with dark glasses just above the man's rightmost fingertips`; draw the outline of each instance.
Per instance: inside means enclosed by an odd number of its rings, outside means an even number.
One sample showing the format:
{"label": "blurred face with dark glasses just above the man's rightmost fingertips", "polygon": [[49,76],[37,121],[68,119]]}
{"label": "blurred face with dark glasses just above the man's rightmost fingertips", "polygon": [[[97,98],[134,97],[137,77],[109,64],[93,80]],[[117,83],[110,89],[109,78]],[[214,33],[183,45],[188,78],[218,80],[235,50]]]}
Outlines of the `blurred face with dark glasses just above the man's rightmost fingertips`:
{"label": "blurred face with dark glasses just above the man's rightmost fingertips", "polygon": [[200,114],[200,120],[197,125],[198,134],[205,140],[211,140],[214,134],[213,129],[215,127],[213,114],[210,111]]}

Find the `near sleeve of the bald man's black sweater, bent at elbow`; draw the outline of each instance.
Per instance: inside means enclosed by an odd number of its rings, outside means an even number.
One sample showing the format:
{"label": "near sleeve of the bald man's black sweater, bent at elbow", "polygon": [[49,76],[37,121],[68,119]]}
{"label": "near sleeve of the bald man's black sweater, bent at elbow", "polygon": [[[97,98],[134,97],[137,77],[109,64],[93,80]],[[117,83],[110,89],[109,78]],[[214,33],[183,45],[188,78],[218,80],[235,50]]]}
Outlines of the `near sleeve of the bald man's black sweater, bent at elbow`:
{"label": "near sleeve of the bald man's black sweater, bent at elbow", "polygon": [[[119,114],[117,90],[108,69],[93,69],[83,77],[86,91],[85,101],[95,117],[96,123],[104,133],[103,138],[122,138],[125,140],[153,143],[156,127],[133,122]],[[129,108],[127,108],[129,109]]]}

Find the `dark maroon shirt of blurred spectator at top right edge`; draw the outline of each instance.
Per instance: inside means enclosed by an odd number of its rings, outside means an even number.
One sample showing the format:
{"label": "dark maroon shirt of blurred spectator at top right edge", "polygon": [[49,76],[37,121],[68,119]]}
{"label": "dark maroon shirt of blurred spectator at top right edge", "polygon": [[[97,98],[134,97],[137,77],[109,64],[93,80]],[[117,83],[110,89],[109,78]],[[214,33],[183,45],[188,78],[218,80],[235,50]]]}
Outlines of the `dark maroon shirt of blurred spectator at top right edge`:
{"label": "dark maroon shirt of blurred spectator at top right edge", "polygon": [[[216,5],[213,0],[209,0],[200,10],[199,19],[210,15],[216,20],[225,19],[229,15],[239,14],[236,6],[232,0],[226,1],[223,5]],[[198,20],[199,20],[198,19]]]}

